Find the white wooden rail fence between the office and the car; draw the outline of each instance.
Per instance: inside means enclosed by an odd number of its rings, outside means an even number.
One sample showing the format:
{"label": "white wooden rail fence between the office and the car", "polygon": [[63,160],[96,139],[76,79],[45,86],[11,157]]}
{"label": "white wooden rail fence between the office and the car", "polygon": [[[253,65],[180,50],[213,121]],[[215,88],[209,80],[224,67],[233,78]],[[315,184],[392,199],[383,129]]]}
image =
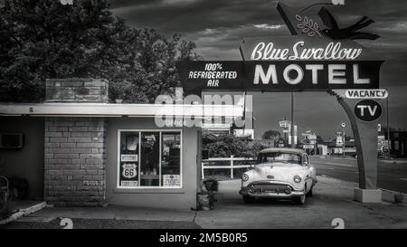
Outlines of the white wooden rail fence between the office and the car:
{"label": "white wooden rail fence between the office and the car", "polygon": [[[202,179],[205,178],[204,170],[205,169],[231,169],[231,178],[233,179],[233,169],[236,168],[248,168],[251,165],[235,165],[236,161],[253,161],[255,160],[252,157],[210,157],[208,159],[202,160]],[[229,161],[228,165],[208,165],[208,163],[213,162],[224,162]]]}

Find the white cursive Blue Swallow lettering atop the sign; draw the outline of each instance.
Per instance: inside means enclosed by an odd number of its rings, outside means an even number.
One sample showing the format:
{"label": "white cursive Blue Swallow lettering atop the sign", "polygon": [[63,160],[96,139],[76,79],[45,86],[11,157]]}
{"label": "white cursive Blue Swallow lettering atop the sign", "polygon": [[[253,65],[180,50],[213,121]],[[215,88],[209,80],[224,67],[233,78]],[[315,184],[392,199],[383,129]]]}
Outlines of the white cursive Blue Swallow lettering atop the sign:
{"label": "white cursive Blue Swallow lettering atop the sign", "polygon": [[251,52],[251,60],[355,60],[362,53],[362,48],[342,48],[340,42],[317,48],[304,48],[304,45],[300,41],[289,50],[276,48],[272,42],[260,42]]}

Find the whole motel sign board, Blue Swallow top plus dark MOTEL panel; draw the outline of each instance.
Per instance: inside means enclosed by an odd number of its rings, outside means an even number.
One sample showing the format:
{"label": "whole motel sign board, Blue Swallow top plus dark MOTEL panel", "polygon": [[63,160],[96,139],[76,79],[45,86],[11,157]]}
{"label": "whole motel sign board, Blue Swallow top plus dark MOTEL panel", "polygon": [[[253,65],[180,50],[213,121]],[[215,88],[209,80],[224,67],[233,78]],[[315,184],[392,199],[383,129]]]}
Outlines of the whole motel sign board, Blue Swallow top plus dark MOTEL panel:
{"label": "whole motel sign board, Blue Swallow top plus dark MOTEL panel", "polygon": [[304,35],[247,38],[243,61],[177,64],[186,90],[367,90],[379,88],[383,61],[357,43]]}

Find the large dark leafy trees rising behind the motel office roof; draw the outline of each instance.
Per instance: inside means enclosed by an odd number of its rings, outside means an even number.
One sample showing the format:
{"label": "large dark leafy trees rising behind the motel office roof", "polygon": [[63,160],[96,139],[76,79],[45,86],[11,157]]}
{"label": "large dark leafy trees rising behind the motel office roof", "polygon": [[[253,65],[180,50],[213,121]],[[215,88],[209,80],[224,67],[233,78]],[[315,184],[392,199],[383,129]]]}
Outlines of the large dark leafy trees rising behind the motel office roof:
{"label": "large dark leafy trees rising behind the motel office roof", "polygon": [[179,85],[175,62],[197,60],[175,34],[135,29],[107,0],[0,3],[0,101],[40,101],[47,78],[109,80],[110,100],[152,102]]}

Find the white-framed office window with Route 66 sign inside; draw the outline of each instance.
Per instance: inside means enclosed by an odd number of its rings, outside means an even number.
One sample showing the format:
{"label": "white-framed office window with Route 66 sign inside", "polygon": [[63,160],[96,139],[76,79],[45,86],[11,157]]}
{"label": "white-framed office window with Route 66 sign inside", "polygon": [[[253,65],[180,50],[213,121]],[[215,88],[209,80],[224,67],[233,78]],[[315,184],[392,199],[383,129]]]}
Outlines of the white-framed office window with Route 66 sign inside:
{"label": "white-framed office window with Route 66 sign inside", "polygon": [[118,131],[119,188],[180,188],[181,131]]}

